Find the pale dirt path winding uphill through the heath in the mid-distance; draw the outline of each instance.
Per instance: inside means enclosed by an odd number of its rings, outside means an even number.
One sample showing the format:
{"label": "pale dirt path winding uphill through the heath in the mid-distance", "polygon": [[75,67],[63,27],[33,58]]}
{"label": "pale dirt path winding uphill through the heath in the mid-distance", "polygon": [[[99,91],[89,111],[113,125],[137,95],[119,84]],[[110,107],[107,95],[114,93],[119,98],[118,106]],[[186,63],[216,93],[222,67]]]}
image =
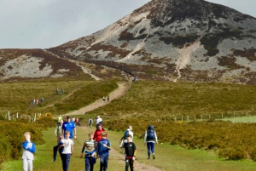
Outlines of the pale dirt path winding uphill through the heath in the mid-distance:
{"label": "pale dirt path winding uphill through the heath in the mid-distance", "polygon": [[131,88],[131,83],[118,83],[119,88],[115,89],[113,92],[109,94],[110,102],[102,102],[102,99],[96,100],[90,105],[87,105],[78,111],[72,111],[70,113],[66,113],[63,116],[73,116],[73,115],[84,115],[84,113],[88,111],[93,111],[98,107],[102,107],[103,105],[108,105],[111,103],[111,100],[119,99],[123,95],[127,93],[127,91]]}

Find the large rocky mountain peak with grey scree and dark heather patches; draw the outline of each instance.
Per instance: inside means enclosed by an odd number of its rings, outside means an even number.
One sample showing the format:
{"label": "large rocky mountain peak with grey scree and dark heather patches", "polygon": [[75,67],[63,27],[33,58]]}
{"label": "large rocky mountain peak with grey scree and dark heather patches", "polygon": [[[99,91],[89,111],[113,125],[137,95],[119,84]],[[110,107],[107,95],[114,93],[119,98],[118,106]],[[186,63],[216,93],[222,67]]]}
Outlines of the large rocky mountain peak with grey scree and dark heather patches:
{"label": "large rocky mountain peak with grey scree and dark heather patches", "polygon": [[256,19],[204,0],[152,0],[45,51],[143,79],[256,83]]}

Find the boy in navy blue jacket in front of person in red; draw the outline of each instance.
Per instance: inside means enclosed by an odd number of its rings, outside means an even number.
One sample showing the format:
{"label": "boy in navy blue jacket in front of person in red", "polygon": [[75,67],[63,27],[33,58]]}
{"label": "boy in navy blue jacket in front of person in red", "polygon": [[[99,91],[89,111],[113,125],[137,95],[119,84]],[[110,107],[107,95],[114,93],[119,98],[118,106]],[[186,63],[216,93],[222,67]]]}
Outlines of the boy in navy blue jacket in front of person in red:
{"label": "boy in navy blue jacket in front of person in red", "polygon": [[97,159],[101,159],[100,171],[106,171],[108,168],[108,156],[109,150],[111,150],[110,141],[107,139],[107,133],[102,132],[102,140],[99,140],[97,143]]}

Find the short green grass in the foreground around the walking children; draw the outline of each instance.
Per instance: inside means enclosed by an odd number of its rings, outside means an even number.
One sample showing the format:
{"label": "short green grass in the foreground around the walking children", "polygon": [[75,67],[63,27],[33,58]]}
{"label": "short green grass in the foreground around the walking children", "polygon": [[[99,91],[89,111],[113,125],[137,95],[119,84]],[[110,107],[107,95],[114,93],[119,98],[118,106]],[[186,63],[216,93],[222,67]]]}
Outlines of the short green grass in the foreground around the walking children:
{"label": "short green grass in the foreground around the walking children", "polygon": [[[78,128],[79,143],[83,143],[90,131],[94,128]],[[108,139],[111,141],[113,148],[116,151],[122,152],[119,147],[119,139],[123,132],[108,131]],[[52,171],[61,170],[61,158],[58,156],[56,162],[52,162],[52,147],[55,145],[56,139],[54,135],[54,128],[49,128],[44,131],[45,145],[37,146],[36,159],[33,162],[34,171]],[[157,145],[155,149],[156,159],[148,160],[146,146],[143,145],[142,139],[135,137],[134,142],[137,145],[137,162],[142,162],[147,165],[153,165],[165,171],[251,171],[256,169],[254,162],[249,161],[225,161],[223,158],[218,158],[211,152],[202,150],[185,150],[177,145]],[[70,170],[82,171],[84,170],[84,159],[79,158],[81,146],[78,141],[74,140],[74,154],[70,162]],[[3,171],[21,170],[22,162],[10,161],[3,163]],[[99,162],[96,162],[95,170],[99,169]],[[108,170],[119,171],[125,169],[125,162],[123,158],[113,157],[110,152]],[[136,169],[137,170],[137,169]]]}

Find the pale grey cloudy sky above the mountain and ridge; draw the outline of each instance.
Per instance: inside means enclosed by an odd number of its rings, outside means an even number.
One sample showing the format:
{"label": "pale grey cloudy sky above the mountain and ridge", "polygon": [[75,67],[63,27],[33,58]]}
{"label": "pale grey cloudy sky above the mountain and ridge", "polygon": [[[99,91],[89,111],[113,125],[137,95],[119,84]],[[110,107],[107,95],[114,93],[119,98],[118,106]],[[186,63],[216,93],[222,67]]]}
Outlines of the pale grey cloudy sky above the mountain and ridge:
{"label": "pale grey cloudy sky above the mountain and ridge", "polygon": [[[0,48],[51,48],[102,30],[150,0],[0,0]],[[256,0],[207,0],[256,18]]]}

